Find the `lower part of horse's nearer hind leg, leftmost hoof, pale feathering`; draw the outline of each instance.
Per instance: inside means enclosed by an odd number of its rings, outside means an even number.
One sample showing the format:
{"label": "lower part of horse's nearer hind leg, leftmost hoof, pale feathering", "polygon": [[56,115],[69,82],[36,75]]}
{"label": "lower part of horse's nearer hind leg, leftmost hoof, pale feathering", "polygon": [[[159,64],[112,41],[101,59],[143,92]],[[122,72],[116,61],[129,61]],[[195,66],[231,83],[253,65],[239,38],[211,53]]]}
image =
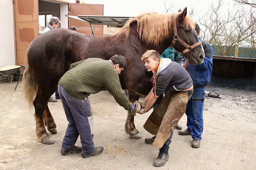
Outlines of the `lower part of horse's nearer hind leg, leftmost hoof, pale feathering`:
{"label": "lower part of horse's nearer hind leg, leftmost hoof, pale feathering", "polygon": [[55,141],[46,132],[44,127],[43,114],[46,108],[48,108],[47,103],[50,98],[50,91],[46,91],[45,89],[47,88],[38,87],[36,98],[33,102],[35,107],[36,136],[44,144],[54,144]]}

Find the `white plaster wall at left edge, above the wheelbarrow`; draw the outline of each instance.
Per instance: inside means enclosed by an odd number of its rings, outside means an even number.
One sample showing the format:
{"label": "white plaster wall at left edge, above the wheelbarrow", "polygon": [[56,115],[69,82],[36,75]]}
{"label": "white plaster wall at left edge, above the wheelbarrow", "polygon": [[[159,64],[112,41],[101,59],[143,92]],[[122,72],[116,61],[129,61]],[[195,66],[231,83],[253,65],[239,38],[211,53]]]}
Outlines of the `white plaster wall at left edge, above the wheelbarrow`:
{"label": "white plaster wall at left edge, above the wheelbarrow", "polygon": [[12,1],[1,0],[0,6],[0,67],[4,67],[15,65]]}

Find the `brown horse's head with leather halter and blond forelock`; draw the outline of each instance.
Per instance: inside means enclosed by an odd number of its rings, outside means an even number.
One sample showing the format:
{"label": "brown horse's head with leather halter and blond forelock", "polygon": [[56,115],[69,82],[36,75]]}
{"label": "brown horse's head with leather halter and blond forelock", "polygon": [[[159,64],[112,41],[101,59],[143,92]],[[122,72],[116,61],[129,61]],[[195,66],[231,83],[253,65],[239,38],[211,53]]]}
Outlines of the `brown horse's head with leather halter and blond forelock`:
{"label": "brown horse's head with leather halter and blond forelock", "polygon": [[201,64],[204,60],[204,49],[194,29],[195,23],[187,16],[187,8],[173,24],[174,37],[171,46],[189,59],[190,64]]}

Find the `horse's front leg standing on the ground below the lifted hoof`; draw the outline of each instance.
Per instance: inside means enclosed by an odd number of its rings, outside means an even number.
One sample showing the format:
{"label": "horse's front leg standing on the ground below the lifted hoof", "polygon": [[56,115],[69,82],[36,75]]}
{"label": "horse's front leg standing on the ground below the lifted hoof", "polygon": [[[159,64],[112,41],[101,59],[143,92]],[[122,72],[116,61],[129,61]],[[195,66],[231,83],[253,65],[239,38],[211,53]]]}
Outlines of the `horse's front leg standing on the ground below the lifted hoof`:
{"label": "horse's front leg standing on the ground below the lifted hoof", "polygon": [[[135,100],[139,100],[140,96],[137,95],[136,93],[128,90],[128,98],[131,102],[135,101]],[[140,133],[139,131],[136,129],[135,124],[134,124],[134,115],[130,116],[129,111],[128,111],[128,115],[125,121],[125,126],[124,126],[125,132],[127,134],[129,134],[130,138],[133,139],[140,139]]]}

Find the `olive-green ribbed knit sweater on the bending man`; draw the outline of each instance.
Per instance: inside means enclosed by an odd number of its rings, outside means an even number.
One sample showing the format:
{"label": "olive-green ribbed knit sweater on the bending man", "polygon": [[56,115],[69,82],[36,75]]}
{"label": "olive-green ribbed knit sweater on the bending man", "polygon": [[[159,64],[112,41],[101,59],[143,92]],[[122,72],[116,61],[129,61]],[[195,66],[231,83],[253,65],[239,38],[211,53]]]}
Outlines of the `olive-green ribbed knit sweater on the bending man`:
{"label": "olive-green ribbed knit sweater on the bending man", "polygon": [[120,106],[125,110],[132,110],[118,74],[108,60],[89,58],[73,63],[69,71],[61,77],[59,84],[72,96],[80,99],[107,88]]}

